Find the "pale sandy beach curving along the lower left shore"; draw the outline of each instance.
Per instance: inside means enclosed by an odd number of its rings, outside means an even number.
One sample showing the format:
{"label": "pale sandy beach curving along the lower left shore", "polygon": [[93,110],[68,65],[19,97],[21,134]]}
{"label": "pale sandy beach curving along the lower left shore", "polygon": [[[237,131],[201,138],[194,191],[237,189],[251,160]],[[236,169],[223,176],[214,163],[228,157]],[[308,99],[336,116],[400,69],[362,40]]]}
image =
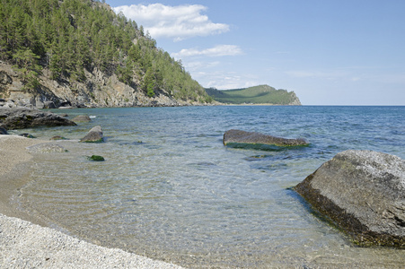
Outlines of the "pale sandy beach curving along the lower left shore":
{"label": "pale sandy beach curving along the lower left shore", "polygon": [[181,268],[42,227],[46,221],[13,206],[13,194],[28,180],[26,148],[38,143],[46,141],[0,135],[0,268]]}

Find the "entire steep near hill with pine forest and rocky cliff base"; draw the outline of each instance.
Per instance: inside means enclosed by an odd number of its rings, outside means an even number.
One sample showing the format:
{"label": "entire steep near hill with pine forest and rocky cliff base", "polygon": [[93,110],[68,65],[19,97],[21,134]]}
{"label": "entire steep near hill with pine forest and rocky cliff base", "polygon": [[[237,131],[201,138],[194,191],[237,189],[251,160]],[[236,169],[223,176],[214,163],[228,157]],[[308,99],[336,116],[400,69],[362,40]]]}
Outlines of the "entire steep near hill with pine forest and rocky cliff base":
{"label": "entire steep near hill with pine forest and rocky cliff base", "polygon": [[210,102],[142,25],[96,0],[2,0],[0,98],[41,108]]}

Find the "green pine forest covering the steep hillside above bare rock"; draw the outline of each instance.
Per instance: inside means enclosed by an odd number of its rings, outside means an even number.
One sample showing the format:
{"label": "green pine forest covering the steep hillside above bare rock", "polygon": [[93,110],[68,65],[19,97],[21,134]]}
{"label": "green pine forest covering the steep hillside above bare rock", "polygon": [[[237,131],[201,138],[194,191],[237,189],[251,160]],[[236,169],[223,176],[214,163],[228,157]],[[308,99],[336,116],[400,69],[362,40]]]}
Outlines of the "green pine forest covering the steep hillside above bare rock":
{"label": "green pine forest covering the steep hillside above bare rock", "polygon": [[141,25],[98,1],[0,0],[0,59],[22,75],[26,91],[40,86],[40,74],[84,82],[84,70],[97,68],[149,97],[164,91],[178,100],[210,100]]}

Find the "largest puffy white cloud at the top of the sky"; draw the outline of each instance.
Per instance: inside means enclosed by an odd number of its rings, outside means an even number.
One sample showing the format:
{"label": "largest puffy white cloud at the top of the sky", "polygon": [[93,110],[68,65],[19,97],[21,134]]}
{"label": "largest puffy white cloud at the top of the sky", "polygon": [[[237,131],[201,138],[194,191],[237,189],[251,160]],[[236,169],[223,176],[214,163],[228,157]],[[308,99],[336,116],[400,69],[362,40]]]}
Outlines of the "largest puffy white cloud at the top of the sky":
{"label": "largest puffy white cloud at the top of the sky", "polygon": [[211,22],[207,15],[202,14],[207,7],[200,4],[131,4],[114,7],[113,10],[115,13],[122,12],[128,19],[143,25],[154,39],[165,37],[181,40],[229,30],[229,25]]}

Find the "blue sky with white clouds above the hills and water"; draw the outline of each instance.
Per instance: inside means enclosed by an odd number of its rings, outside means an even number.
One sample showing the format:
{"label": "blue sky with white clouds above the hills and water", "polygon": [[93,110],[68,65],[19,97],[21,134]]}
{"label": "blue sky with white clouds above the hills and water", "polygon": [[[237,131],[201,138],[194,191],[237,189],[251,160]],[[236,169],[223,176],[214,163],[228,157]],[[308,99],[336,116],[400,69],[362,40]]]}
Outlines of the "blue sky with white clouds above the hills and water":
{"label": "blue sky with white clouds above the hills and water", "polygon": [[304,105],[405,105],[405,1],[106,0],[204,87],[269,84]]}

